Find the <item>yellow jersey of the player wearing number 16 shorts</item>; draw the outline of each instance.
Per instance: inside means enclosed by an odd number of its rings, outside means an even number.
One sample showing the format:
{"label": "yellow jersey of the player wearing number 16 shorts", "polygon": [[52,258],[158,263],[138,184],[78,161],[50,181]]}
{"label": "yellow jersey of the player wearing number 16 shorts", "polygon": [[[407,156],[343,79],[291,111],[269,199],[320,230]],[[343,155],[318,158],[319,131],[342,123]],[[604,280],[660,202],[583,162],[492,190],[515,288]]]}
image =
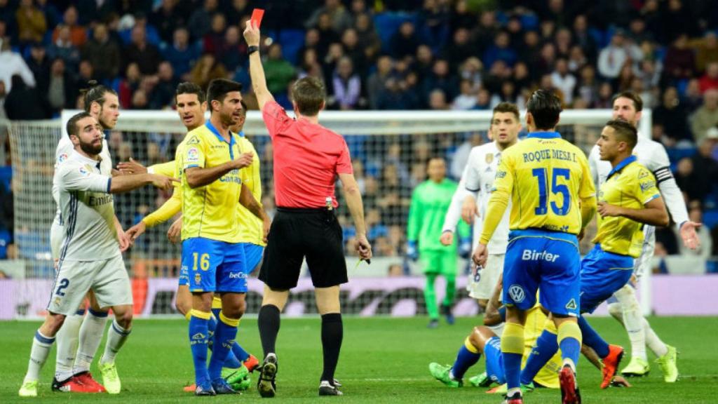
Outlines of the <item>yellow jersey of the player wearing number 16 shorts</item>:
{"label": "yellow jersey of the player wearing number 16 shorts", "polygon": [[242,190],[241,170],[231,170],[213,183],[197,188],[187,184],[185,171],[223,165],[241,152],[238,135],[230,132],[227,142],[210,121],[188,133],[181,147],[177,147],[175,162],[182,170],[182,240],[202,237],[240,242],[236,218]]}

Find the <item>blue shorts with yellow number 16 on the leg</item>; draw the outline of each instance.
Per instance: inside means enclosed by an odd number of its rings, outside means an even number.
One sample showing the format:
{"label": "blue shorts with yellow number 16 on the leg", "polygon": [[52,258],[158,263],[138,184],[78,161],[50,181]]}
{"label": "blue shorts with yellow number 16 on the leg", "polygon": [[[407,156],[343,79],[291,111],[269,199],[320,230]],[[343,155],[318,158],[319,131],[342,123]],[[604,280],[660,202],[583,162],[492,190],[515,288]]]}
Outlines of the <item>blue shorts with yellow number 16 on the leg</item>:
{"label": "blue shorts with yellow number 16 on the leg", "polygon": [[190,292],[246,293],[246,262],[242,244],[193,237],[182,242],[180,277],[187,272]]}

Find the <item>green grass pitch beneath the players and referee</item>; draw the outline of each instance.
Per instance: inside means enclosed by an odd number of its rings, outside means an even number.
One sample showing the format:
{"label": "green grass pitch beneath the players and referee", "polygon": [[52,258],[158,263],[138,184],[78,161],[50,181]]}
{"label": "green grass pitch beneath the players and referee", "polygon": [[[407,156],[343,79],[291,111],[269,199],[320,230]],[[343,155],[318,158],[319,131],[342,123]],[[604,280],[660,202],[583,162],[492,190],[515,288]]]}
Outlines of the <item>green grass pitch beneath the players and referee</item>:
{"label": "green grass pitch beneath the players and referee", "polygon": [[[345,318],[344,344],[337,379],[343,397],[319,398],[317,388],[322,371],[319,318],[282,319],[277,346],[279,373],[274,400],[313,403],[335,400],[342,403],[500,403],[500,395],[485,389],[451,389],[429,375],[429,362],[450,364],[468,331],[480,318],[458,318],[454,326],[442,323],[426,329],[426,318]],[[628,347],[625,331],[612,318],[592,318],[592,324],[608,341]],[[584,403],[716,403],[718,386],[718,318],[651,318],[654,329],[668,344],[677,346],[681,378],[663,382],[658,364],[651,362],[651,375],[632,379],[633,387],[600,390],[600,372],[582,359],[579,386]],[[29,357],[34,331],[39,322],[0,322],[0,403],[66,403],[91,400],[123,403],[178,403],[201,400],[241,402],[257,400],[256,372],[253,385],[243,395],[195,398],[182,392],[192,382],[192,360],[187,344],[187,322],[177,320],[136,320],[131,338],[118,354],[122,380],[120,395],[80,395],[50,390],[55,367],[55,349],[42,370],[37,399],[17,396]],[[238,341],[261,357],[256,318],[242,321]],[[99,352],[103,352],[101,347]],[[98,354],[99,357],[99,354]],[[95,358],[93,375],[100,372]],[[261,359],[260,359],[261,360]],[[625,359],[628,361],[628,355]],[[623,362],[623,364],[628,362]],[[484,369],[482,360],[467,377]],[[559,403],[558,390],[536,390],[526,403]]]}

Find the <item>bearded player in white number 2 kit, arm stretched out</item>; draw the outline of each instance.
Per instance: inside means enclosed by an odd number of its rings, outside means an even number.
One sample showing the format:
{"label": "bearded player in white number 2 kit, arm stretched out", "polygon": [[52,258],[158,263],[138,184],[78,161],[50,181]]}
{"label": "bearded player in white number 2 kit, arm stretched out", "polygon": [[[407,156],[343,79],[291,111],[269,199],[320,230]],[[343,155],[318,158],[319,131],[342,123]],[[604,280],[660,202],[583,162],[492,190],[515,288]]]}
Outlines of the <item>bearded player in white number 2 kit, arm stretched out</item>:
{"label": "bearded player in white number 2 kit, arm stretched out", "polygon": [[[50,354],[57,331],[65,318],[75,313],[88,290],[93,290],[98,306],[112,308],[115,319],[108,331],[100,367],[114,369],[115,357],[129,336],[132,323],[132,290],[122,260],[116,228],[113,193],[154,185],[172,187],[172,180],[161,175],[111,177],[102,164],[100,124],[87,112],[67,122],[67,134],[75,150],[58,168],[58,201],[65,222],[55,284],[47,305],[45,322],[35,333],[27,374],[19,395],[37,396],[37,380]],[[108,392],[112,392],[108,389]],[[116,391],[119,392],[119,391]]]}

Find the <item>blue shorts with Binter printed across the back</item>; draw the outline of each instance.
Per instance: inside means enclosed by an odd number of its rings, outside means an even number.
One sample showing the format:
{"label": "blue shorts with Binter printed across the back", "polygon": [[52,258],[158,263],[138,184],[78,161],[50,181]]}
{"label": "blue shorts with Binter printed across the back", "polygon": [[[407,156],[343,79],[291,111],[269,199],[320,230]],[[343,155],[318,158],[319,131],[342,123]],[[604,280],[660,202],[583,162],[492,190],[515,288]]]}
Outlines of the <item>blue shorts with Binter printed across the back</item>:
{"label": "blue shorts with Binter printed across the back", "polygon": [[579,315],[581,256],[574,234],[541,229],[508,235],[503,303],[528,311],[541,289],[541,306],[561,316]]}

